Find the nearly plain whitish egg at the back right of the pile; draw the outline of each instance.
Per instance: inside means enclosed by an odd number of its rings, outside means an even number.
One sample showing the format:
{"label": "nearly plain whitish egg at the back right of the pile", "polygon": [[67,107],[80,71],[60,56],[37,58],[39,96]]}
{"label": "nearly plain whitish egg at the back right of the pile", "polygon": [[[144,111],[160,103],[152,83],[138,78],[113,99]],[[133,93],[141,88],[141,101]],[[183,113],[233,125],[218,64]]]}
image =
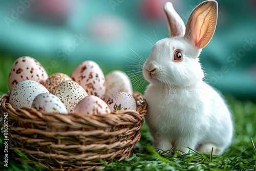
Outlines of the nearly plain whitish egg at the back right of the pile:
{"label": "nearly plain whitish egg at the back right of the pile", "polygon": [[133,94],[133,87],[130,78],[122,71],[112,71],[105,76],[106,94],[108,98],[118,92]]}

